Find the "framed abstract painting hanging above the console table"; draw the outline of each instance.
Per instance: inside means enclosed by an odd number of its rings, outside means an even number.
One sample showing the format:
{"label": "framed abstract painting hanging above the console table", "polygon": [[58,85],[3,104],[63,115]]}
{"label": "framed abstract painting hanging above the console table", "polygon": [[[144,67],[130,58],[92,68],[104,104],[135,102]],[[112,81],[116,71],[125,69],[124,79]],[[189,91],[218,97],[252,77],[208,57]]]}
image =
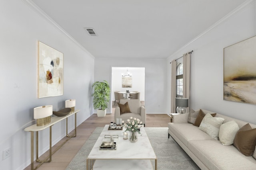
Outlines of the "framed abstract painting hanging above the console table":
{"label": "framed abstract painting hanging above the console table", "polygon": [[63,53],[38,41],[38,98],[63,95]]}

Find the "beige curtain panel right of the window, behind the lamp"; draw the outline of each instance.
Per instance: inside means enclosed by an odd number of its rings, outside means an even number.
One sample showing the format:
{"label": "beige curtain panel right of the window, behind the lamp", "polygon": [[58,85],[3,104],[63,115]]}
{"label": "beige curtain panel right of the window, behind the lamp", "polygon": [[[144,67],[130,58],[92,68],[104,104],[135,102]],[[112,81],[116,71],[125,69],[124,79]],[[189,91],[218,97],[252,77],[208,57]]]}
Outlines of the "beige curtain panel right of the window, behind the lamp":
{"label": "beige curtain panel right of the window, behind the lamp", "polygon": [[[183,98],[188,99],[189,107],[189,87],[190,87],[190,53],[183,55]],[[189,108],[188,108],[189,111]]]}

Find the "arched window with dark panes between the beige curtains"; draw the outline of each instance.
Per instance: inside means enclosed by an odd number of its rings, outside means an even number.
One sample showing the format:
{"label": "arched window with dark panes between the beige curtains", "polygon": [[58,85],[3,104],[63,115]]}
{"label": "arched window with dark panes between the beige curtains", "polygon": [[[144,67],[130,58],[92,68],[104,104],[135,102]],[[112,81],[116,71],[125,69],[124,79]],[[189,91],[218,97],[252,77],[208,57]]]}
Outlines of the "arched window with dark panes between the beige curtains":
{"label": "arched window with dark panes between the beige curtains", "polygon": [[[183,57],[182,57],[183,59]],[[183,97],[183,63],[177,63],[176,67],[176,98]]]}

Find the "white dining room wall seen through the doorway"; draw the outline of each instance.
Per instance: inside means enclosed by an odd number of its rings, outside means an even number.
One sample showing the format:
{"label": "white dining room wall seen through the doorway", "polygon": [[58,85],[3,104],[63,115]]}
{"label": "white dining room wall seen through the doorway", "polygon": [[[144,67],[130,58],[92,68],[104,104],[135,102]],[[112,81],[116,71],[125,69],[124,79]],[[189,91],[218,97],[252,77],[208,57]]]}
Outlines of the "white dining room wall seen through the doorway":
{"label": "white dining room wall seen through the doorway", "polygon": [[[126,75],[126,72],[130,72],[132,75],[132,87],[122,87],[122,74]],[[140,100],[145,100],[145,68],[144,67],[112,67],[112,101],[114,101],[114,91],[125,92],[126,90],[140,92]],[[124,94],[125,96],[125,94]]]}

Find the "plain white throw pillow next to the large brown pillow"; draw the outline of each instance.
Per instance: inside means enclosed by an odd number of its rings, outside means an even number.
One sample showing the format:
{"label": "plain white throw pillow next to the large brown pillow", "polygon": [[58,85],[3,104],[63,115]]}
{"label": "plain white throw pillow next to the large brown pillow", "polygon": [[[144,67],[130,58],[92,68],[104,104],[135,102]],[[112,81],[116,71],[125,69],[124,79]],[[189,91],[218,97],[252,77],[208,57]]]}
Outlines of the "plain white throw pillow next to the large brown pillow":
{"label": "plain white throw pillow next to the large brown pillow", "polygon": [[228,121],[220,126],[219,139],[222,145],[232,145],[239,127],[235,121]]}

